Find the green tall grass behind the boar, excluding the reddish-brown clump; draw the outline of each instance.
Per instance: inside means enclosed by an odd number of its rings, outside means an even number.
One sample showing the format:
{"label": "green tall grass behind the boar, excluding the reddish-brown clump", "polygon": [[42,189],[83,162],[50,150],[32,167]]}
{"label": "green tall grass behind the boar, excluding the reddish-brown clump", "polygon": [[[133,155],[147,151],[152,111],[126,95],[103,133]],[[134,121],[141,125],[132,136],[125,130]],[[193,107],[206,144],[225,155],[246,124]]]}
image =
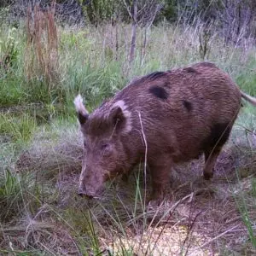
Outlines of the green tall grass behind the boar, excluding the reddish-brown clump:
{"label": "green tall grass behind the boar, excluding the reddish-brown clump", "polygon": [[[12,31],[3,27],[2,34]],[[137,55],[131,68],[127,66],[127,48],[130,26],[119,25],[119,48],[115,47],[114,28],[98,27],[62,29],[59,28],[58,73],[61,83],[48,90],[44,79],[31,81],[26,78],[24,61],[26,39],[23,28],[12,32],[12,39],[4,45],[15,44],[16,55],[13,66],[0,78],[0,102],[2,106],[26,104],[28,102],[59,102],[65,106],[78,92],[83,94],[89,105],[95,107],[102,99],[112,96],[135,76],[179,67],[201,61],[199,55],[199,28],[186,32],[166,24],[153,27],[148,34],[146,54],[142,59],[143,30],[138,29]],[[22,35],[23,36],[20,36]],[[2,37],[4,38],[4,36]],[[13,43],[14,42],[14,43]],[[182,43],[181,43],[182,42]],[[181,44],[183,47],[181,47]],[[210,43],[209,43],[210,44]],[[211,47],[210,47],[211,46]],[[224,47],[221,38],[214,38],[209,46],[209,61],[214,61],[236,79],[243,90],[253,94],[255,75],[253,67],[253,46],[248,49]],[[8,53],[8,47],[1,49],[1,55]],[[143,62],[142,62],[143,60]]]}

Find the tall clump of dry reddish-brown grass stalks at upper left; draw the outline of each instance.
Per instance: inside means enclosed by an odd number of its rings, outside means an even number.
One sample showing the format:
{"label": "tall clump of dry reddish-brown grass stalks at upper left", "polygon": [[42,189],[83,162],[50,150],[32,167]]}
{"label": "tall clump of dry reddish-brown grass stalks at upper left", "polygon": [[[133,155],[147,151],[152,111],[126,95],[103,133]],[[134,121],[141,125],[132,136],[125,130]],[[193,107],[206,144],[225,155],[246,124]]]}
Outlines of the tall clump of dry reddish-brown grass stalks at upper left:
{"label": "tall clump of dry reddish-brown grass stalks at upper left", "polygon": [[50,92],[60,79],[55,2],[46,10],[39,3],[27,9],[26,38],[26,77],[46,82]]}

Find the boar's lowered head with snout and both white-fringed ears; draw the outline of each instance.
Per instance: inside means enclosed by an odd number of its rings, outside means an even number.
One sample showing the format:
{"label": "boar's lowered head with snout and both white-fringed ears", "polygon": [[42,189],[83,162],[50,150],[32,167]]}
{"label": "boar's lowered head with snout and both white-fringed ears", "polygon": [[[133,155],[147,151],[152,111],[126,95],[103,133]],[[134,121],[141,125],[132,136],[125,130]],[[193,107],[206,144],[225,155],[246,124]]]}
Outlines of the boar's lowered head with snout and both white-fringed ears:
{"label": "boar's lowered head with snout and both white-fringed ears", "polygon": [[74,104],[84,136],[79,195],[97,197],[104,182],[126,172],[124,135],[131,131],[131,113],[123,101],[107,102],[90,114],[81,96],[75,98]]}

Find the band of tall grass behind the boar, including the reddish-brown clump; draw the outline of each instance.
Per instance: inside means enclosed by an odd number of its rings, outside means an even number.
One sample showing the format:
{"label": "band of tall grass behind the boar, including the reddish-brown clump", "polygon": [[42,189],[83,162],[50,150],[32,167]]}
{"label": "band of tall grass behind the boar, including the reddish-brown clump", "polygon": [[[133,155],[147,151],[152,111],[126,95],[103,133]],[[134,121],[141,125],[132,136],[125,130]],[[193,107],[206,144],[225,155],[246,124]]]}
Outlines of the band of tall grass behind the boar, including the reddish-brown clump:
{"label": "band of tall grass behind the boar, including the reddish-brown clump", "polygon": [[[136,58],[130,68],[127,64],[130,26],[58,27],[55,31],[55,23],[47,23],[47,17],[38,14],[38,19],[27,21],[25,27],[20,26],[12,34],[17,53],[14,67],[0,79],[4,105],[26,102],[63,102],[68,105],[69,99],[80,91],[96,106],[102,98],[113,95],[136,76],[201,61],[202,28],[199,25],[184,29],[162,23],[151,27],[143,56],[144,31],[138,29]],[[24,29],[28,30],[26,38],[22,36]],[[1,27],[2,34],[9,30],[12,28]],[[48,34],[48,31],[52,32]],[[254,94],[255,50],[250,40],[245,38],[240,45],[226,45],[223,38],[212,32],[207,44],[207,60],[216,62],[243,90]],[[1,55],[8,53],[3,48],[1,51]]]}

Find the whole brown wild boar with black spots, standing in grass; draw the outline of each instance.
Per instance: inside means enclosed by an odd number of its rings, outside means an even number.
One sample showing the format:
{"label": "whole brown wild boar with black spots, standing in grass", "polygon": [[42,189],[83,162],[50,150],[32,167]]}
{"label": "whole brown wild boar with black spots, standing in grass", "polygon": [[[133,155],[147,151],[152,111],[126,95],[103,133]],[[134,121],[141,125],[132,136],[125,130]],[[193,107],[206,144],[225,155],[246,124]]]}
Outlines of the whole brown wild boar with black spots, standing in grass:
{"label": "whole brown wild boar with black spots, standing in grass", "polygon": [[209,179],[241,108],[238,89],[214,64],[155,72],[136,79],[93,113],[81,96],[74,104],[84,135],[79,195],[97,197],[108,179],[127,174],[145,160],[152,178],[151,200],[160,201],[172,165],[205,156]]}

